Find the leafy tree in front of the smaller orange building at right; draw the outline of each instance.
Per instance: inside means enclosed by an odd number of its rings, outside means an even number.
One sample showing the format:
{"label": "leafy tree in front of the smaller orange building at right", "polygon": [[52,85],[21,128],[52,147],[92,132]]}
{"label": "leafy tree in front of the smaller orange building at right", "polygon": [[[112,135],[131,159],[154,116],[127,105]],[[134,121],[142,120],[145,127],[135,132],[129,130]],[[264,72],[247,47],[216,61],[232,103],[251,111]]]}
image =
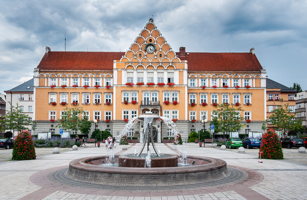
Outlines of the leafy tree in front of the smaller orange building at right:
{"label": "leafy tree in front of the smaller orange building at right", "polygon": [[278,109],[273,110],[273,114],[270,116],[272,126],[275,126],[278,130],[282,131],[284,135],[288,130],[303,131],[301,120],[295,120],[295,113],[289,111],[289,103],[279,106]]}

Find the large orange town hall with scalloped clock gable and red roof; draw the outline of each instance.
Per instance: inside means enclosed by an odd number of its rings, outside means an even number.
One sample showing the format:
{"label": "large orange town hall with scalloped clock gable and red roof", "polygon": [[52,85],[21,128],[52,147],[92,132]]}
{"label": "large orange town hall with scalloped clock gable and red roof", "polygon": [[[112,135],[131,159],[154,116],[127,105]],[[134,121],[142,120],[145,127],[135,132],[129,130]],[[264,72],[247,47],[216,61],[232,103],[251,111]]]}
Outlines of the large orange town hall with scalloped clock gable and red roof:
{"label": "large orange town hall with scalloped clock gable and red roof", "polygon": [[[111,130],[115,137],[126,125],[125,119],[146,111],[177,120],[184,140],[192,130],[202,129],[203,116],[209,128],[218,109],[214,103],[239,103],[236,107],[245,110],[241,116],[251,120],[242,122],[247,127],[240,133],[261,132],[266,119],[266,71],[254,48],[249,53],[188,53],[185,47],[175,52],[151,19],[126,52],[67,52],[46,47],[34,69],[34,94],[37,132],[59,133],[54,128],[57,121],[50,120],[60,119],[65,106],[74,102],[83,107],[89,120],[100,120],[97,128]],[[173,136],[160,121],[154,122],[153,130],[157,142]],[[142,135],[143,122],[128,133],[141,141]]]}

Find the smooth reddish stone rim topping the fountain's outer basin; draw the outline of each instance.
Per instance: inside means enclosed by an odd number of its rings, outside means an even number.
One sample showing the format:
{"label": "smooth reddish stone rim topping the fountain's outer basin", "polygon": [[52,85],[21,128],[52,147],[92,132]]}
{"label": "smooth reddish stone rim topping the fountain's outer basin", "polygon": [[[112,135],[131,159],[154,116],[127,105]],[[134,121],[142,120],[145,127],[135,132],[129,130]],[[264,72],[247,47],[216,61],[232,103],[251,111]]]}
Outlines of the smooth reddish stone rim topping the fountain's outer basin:
{"label": "smooth reddish stone rim topping the fountain's outer basin", "polygon": [[[167,154],[174,155],[174,154]],[[115,155],[119,157],[119,155]],[[79,158],[69,163],[69,167],[77,170],[84,170],[90,172],[111,173],[111,174],[184,174],[196,173],[221,169],[226,167],[226,162],[221,159],[209,158],[203,156],[187,155],[187,158],[205,160],[210,163],[195,166],[182,167],[153,167],[153,168],[138,168],[138,167],[111,167],[87,164],[86,162],[107,158],[107,155],[92,156],[86,158]]]}

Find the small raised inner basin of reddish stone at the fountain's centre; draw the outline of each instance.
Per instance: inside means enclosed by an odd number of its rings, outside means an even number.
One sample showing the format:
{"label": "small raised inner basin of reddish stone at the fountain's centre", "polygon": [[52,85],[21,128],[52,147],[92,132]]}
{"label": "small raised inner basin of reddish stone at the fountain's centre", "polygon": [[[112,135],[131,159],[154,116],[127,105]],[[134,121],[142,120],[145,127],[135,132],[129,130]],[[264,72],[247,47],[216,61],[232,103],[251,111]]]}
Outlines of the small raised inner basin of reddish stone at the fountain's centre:
{"label": "small raised inner basin of reddish stone at the fountain's centre", "polygon": [[[147,154],[143,154],[147,155]],[[142,156],[142,154],[141,154]],[[178,156],[177,155],[167,155],[155,156],[150,158],[151,167],[177,167],[178,166]],[[118,157],[119,167],[145,167],[146,158],[144,156],[136,157],[134,155],[120,155]]]}

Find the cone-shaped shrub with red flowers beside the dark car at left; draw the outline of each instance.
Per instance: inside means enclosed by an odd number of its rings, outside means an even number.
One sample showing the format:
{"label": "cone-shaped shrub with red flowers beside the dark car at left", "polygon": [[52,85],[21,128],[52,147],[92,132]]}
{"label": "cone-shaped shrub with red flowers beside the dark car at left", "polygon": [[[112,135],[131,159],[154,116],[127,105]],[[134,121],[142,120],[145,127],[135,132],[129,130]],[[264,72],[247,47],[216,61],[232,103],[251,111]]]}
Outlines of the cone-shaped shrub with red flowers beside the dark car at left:
{"label": "cone-shaped shrub with red flowers beside the dark car at left", "polygon": [[33,160],[35,158],[32,135],[28,130],[22,130],[15,139],[12,160]]}

